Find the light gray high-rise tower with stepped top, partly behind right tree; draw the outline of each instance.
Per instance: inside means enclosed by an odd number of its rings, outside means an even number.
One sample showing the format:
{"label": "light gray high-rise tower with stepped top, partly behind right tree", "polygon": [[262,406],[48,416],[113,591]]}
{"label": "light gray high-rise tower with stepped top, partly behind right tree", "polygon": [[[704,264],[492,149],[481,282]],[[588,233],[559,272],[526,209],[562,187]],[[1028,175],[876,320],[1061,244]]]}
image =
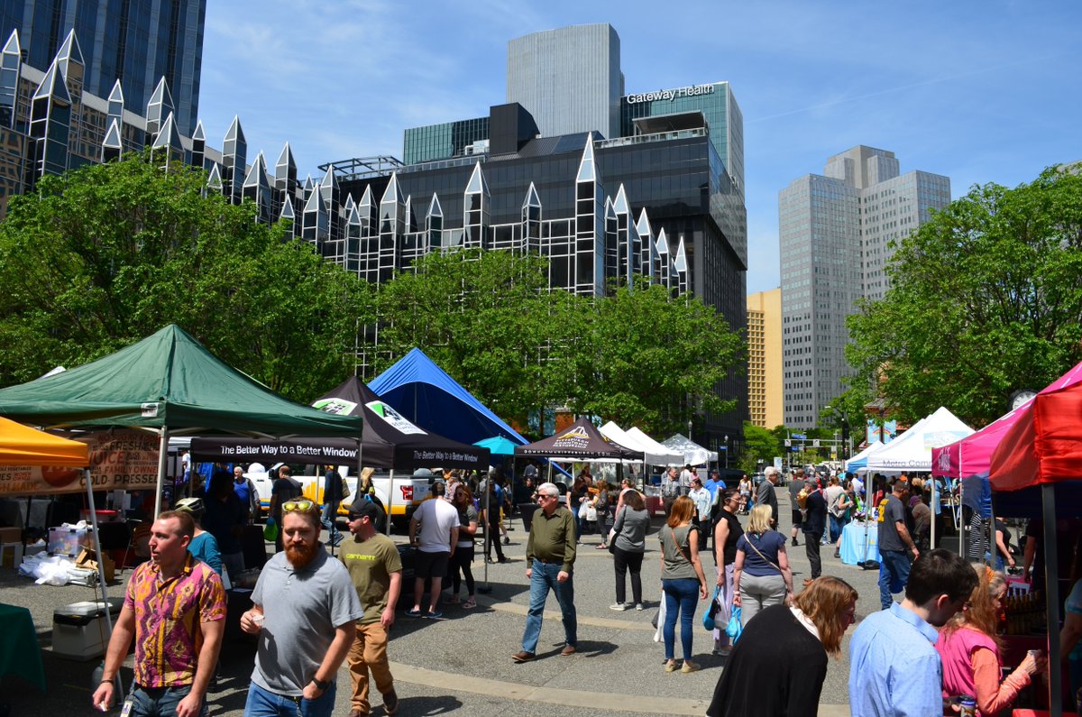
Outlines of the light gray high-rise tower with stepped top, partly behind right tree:
{"label": "light gray high-rise tower with stepped top, partly behind right tree", "polygon": [[842,392],[845,320],[889,288],[889,243],[950,204],[949,178],[898,171],[893,152],[859,145],[778,194],[786,426],[815,427]]}

